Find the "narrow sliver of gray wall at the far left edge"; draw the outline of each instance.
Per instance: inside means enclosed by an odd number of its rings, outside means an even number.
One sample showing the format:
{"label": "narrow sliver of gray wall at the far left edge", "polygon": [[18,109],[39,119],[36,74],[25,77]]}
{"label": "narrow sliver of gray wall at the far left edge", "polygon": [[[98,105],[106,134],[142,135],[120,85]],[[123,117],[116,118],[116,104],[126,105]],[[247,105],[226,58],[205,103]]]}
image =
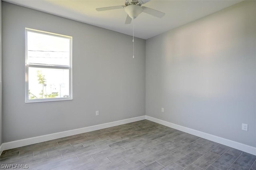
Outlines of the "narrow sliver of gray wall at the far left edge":
{"label": "narrow sliver of gray wall at the far left edge", "polygon": [[2,1],[0,0],[0,146],[2,144],[2,120]]}

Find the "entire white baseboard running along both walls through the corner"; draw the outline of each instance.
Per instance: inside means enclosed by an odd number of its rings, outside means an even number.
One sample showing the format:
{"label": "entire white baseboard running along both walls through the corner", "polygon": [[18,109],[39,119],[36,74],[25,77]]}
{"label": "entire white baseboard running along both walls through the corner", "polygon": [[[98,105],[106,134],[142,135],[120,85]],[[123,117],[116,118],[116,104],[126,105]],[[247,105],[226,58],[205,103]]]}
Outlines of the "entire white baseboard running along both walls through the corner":
{"label": "entire white baseboard running along both walls through the corner", "polygon": [[1,155],[3,150],[17,148],[17,147],[26,146],[26,145],[29,145],[29,144],[35,144],[35,143],[39,143],[39,142],[44,142],[44,141],[47,141],[47,140],[63,138],[63,137],[66,137],[66,136],[71,136],[71,135],[75,135],[75,134],[90,132],[90,131],[99,130],[99,129],[102,129],[102,128],[114,127],[114,126],[118,126],[118,125],[123,125],[125,123],[141,121],[141,120],[144,120],[144,119],[147,119],[149,121],[153,121],[153,122],[159,123],[159,124],[167,126],[167,127],[175,128],[177,130],[187,132],[189,134],[193,134],[193,135],[199,136],[201,138],[212,140],[214,142],[224,144],[226,146],[230,146],[232,148],[236,148],[238,150],[242,150],[244,152],[248,152],[250,154],[256,155],[256,148],[255,147],[252,147],[252,146],[249,146],[249,145],[246,145],[246,144],[242,144],[242,143],[239,143],[239,142],[235,142],[235,141],[232,141],[232,140],[228,140],[226,138],[221,138],[219,136],[214,136],[212,134],[208,134],[208,133],[201,132],[201,131],[198,131],[198,130],[194,130],[194,129],[191,129],[191,128],[176,125],[174,123],[170,123],[170,122],[167,122],[167,121],[156,119],[156,118],[150,117],[150,116],[134,117],[134,118],[130,118],[130,119],[124,119],[124,120],[120,120],[120,121],[114,121],[114,122],[104,123],[104,124],[100,124],[100,125],[94,125],[94,126],[90,126],[90,127],[78,128],[78,129],[73,129],[73,130],[67,130],[67,131],[64,131],[64,132],[52,133],[52,134],[47,134],[47,135],[43,135],[43,136],[36,136],[36,137],[33,137],[33,138],[26,138],[26,139],[22,139],[22,140],[15,140],[15,141],[12,141],[12,142],[2,143],[0,145],[0,155]]}

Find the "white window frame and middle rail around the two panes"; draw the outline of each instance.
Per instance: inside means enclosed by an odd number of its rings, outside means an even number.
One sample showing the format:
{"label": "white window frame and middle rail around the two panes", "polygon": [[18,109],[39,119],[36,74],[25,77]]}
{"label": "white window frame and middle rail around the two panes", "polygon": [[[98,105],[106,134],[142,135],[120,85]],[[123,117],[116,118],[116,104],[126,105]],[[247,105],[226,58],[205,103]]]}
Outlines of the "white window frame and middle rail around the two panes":
{"label": "white window frame and middle rail around the two panes", "polygon": [[[62,101],[62,100],[72,100],[72,37],[65,36],[62,34],[55,34],[51,32],[35,30],[31,28],[25,28],[26,32],[26,43],[25,43],[25,103],[33,102],[44,102],[44,101]],[[69,65],[48,65],[48,64],[39,64],[39,63],[28,63],[28,32],[35,32],[39,34],[45,34],[49,36],[56,36],[60,38],[67,38],[70,40],[70,54],[69,54]],[[69,70],[69,97],[62,98],[52,98],[52,99],[29,99],[28,96],[28,68],[37,67],[37,68],[49,68],[49,69],[68,69]]]}

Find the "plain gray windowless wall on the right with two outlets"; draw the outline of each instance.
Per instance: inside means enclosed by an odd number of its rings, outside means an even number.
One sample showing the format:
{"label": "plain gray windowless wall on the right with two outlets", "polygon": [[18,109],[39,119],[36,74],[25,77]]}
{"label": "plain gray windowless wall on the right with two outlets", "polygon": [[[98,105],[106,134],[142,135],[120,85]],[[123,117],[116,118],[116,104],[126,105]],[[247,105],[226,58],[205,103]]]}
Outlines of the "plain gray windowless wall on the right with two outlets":
{"label": "plain gray windowless wall on the right with two outlets", "polygon": [[146,115],[256,147],[255,16],[241,2],[146,40]]}

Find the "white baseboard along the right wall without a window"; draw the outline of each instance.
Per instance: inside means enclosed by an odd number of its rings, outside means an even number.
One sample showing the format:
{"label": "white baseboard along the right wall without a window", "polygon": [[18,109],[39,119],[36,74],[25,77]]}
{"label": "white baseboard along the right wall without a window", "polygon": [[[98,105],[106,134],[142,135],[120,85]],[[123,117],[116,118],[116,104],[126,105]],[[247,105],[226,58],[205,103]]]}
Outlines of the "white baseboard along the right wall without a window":
{"label": "white baseboard along the right wall without a window", "polygon": [[193,134],[193,135],[199,136],[201,138],[212,140],[214,142],[224,144],[226,146],[230,146],[232,148],[236,148],[238,150],[242,150],[244,152],[256,155],[256,148],[252,147],[252,146],[249,146],[249,145],[246,145],[246,144],[242,144],[242,143],[239,143],[239,142],[235,142],[233,140],[229,140],[229,139],[226,139],[226,138],[221,138],[219,136],[214,136],[212,134],[208,134],[208,133],[201,132],[201,131],[198,131],[198,130],[194,130],[194,129],[191,129],[191,128],[176,125],[174,123],[163,121],[161,119],[156,119],[154,117],[146,116],[146,119],[149,120],[149,121],[156,122],[156,123],[159,123],[161,125],[167,126],[167,127],[175,128],[177,130],[180,130],[180,131],[183,131],[183,132],[186,132],[186,133],[189,133],[189,134]]}

